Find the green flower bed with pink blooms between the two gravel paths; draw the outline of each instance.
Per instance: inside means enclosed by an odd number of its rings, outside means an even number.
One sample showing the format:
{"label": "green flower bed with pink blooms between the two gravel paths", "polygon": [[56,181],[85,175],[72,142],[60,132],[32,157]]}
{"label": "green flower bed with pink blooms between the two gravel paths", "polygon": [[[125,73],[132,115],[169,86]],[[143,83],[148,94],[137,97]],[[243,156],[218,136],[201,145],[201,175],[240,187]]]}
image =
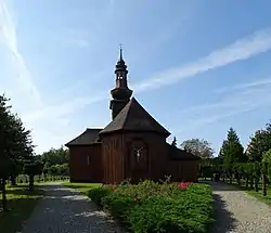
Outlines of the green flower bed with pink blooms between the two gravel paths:
{"label": "green flower bed with pink blooms between the two gravel paths", "polygon": [[207,184],[144,181],[137,185],[104,185],[89,193],[132,232],[205,233],[212,219]]}

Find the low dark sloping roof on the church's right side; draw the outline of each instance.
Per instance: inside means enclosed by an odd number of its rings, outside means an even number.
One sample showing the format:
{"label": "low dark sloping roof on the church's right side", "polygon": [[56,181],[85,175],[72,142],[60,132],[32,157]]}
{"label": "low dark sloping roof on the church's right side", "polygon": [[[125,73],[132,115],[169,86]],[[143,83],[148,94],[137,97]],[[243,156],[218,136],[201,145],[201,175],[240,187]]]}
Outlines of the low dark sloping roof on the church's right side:
{"label": "low dark sloping roof on the church's right side", "polygon": [[178,148],[168,143],[167,143],[167,151],[168,151],[168,156],[171,159],[178,159],[178,160],[201,160],[202,159],[201,157],[193,155],[190,152]]}

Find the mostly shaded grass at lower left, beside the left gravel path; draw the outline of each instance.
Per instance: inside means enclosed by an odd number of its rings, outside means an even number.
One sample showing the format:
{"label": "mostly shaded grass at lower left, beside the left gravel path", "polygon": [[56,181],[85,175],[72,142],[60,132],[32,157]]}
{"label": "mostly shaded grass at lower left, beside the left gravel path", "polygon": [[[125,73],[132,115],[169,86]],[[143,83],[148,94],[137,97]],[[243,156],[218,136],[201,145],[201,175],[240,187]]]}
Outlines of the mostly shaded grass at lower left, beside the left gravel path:
{"label": "mostly shaded grass at lower left, beside the left gravel path", "polygon": [[[35,206],[43,196],[43,191],[36,187],[34,192],[27,190],[28,185],[7,187],[8,207],[10,211],[0,210],[0,232],[15,233],[22,230],[24,222],[31,215]],[[1,193],[0,193],[1,194]],[[2,200],[2,196],[0,196]]]}

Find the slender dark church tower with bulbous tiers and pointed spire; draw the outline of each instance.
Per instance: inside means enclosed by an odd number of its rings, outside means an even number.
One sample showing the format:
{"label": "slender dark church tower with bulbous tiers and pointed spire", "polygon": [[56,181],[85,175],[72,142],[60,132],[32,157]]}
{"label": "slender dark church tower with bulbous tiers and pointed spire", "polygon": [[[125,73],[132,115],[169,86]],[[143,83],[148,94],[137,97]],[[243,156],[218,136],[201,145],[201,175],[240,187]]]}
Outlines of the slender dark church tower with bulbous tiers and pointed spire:
{"label": "slender dark church tower with bulbous tiers and pointed spire", "polygon": [[132,95],[132,90],[128,88],[127,74],[127,66],[122,59],[122,48],[120,47],[119,60],[115,69],[116,85],[115,88],[111,90],[111,95],[113,98],[109,106],[112,109],[112,119],[114,119],[126,106]]}

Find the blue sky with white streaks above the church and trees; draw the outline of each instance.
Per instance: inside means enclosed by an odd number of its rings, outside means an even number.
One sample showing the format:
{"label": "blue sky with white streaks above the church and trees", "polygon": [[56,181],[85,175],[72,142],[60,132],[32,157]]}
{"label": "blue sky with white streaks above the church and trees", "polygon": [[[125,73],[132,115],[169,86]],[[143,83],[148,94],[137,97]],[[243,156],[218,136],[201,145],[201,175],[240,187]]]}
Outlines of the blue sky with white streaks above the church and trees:
{"label": "blue sky with white streaks above the church and trees", "polygon": [[[271,118],[268,0],[0,0],[0,92],[36,151],[111,120],[118,44],[138,101],[181,143],[244,146]],[[172,137],[171,137],[172,138]],[[169,138],[169,140],[171,140]]]}

